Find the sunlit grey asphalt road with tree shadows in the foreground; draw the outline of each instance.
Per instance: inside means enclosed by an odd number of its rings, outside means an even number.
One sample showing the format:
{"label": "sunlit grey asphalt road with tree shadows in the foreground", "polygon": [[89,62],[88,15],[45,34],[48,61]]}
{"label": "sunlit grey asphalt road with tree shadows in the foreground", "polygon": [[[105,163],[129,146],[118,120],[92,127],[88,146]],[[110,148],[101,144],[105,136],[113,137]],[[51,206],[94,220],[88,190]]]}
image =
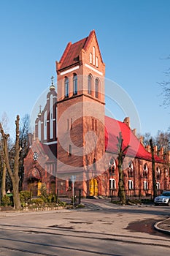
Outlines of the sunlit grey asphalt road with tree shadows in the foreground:
{"label": "sunlit grey asphalt road with tree shadows in the foreground", "polygon": [[80,210],[0,213],[0,255],[170,255],[152,227],[170,208],[83,200]]}

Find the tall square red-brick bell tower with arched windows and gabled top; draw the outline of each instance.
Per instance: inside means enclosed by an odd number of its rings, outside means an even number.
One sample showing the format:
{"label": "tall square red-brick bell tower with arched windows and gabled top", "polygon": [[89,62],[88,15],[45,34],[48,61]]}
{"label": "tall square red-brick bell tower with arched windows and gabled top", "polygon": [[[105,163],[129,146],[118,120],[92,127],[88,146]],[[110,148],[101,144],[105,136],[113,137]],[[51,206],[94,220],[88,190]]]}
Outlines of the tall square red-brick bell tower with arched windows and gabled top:
{"label": "tall square red-brick bell tower with arched windows and gabled top", "polygon": [[94,30],[68,43],[56,71],[58,173],[77,173],[88,180],[103,171],[105,152],[105,64]]}

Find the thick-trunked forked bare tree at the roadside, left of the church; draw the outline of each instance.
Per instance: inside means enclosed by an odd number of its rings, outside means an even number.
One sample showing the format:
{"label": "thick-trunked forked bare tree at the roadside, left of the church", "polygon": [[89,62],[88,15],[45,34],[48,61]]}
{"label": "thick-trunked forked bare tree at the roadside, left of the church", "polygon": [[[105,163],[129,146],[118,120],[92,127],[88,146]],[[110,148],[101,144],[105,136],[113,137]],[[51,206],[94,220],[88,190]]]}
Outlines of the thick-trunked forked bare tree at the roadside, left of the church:
{"label": "thick-trunked forked bare tree at the roadside, left of the church", "polygon": [[15,139],[15,158],[14,158],[13,169],[10,166],[10,163],[9,163],[9,151],[8,151],[9,134],[6,134],[4,132],[4,129],[1,125],[1,123],[0,123],[0,132],[1,132],[1,135],[2,135],[2,138],[3,138],[3,142],[4,142],[4,159],[5,159],[5,164],[7,166],[7,171],[9,173],[9,176],[10,176],[11,180],[12,180],[14,208],[16,210],[20,210],[20,208],[21,208],[20,195],[19,195],[19,181],[20,181],[20,178],[18,176],[19,158],[20,158],[19,121],[20,121],[20,117],[17,116],[16,121],[15,121],[16,139]]}

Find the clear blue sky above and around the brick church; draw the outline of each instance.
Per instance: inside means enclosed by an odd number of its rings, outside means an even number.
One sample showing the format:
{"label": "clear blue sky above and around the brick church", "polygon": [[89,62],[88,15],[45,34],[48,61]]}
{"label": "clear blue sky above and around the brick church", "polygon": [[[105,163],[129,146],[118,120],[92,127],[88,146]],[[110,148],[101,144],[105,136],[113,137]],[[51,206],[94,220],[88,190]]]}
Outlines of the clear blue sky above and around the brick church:
{"label": "clear blue sky above and around the brick church", "polygon": [[95,29],[106,78],[133,100],[140,132],[166,131],[170,110],[160,107],[158,82],[170,67],[169,10],[169,0],[0,1],[0,119],[6,112],[14,134],[16,115],[30,114],[51,76],[56,80],[66,44]]}

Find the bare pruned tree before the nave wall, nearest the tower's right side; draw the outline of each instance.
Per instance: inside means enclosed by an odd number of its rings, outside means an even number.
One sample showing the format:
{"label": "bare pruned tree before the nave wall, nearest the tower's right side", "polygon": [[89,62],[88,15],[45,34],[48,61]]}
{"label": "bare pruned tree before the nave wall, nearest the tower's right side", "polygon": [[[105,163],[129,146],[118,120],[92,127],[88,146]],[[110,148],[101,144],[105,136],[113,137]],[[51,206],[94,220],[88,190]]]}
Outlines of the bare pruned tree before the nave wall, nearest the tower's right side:
{"label": "bare pruned tree before the nave wall, nearest the tower's right side", "polygon": [[123,179],[123,159],[125,157],[125,151],[128,149],[129,145],[123,149],[123,138],[122,132],[119,133],[119,137],[117,136],[118,144],[118,170],[119,170],[119,191],[118,195],[120,197],[120,202],[125,204],[125,184]]}

